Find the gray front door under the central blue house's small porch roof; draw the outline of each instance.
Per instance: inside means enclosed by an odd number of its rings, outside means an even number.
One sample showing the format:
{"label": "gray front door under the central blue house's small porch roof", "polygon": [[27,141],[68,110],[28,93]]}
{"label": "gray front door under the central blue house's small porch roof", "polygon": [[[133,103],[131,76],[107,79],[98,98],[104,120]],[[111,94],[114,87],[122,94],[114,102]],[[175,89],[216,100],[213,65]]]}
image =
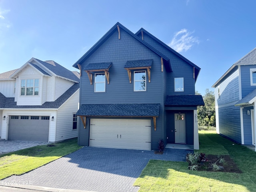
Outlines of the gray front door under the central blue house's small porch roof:
{"label": "gray front door under the central blue house's small porch roof", "polygon": [[186,120],[185,114],[174,114],[175,120],[175,143],[186,143]]}

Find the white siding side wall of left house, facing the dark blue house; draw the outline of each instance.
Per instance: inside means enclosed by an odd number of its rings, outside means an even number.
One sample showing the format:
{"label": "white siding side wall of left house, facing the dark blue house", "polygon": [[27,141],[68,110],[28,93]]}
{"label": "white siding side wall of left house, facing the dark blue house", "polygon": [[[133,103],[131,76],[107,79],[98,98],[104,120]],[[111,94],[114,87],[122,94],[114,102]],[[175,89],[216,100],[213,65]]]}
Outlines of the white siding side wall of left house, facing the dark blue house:
{"label": "white siding side wall of left house, facing the dark blue house", "polygon": [[[78,111],[79,89],[58,109],[56,141],[75,138],[78,130],[73,130],[73,114]],[[78,126],[77,126],[78,128]]]}

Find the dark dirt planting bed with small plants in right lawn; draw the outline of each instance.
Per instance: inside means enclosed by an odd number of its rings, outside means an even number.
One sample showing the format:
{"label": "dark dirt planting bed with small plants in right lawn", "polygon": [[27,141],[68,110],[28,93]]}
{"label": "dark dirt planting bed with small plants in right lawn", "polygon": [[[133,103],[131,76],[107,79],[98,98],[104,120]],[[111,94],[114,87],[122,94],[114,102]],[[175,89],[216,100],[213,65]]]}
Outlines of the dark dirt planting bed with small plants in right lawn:
{"label": "dark dirt planting bed with small plants in right lawn", "polygon": [[[231,172],[231,173],[242,173],[238,168],[236,163],[230,158],[229,155],[222,155],[221,158],[224,158],[224,163],[220,163],[220,157],[217,155],[207,155],[206,162],[203,165],[199,164],[198,171],[214,171],[212,168],[209,168],[212,163],[217,162],[218,166],[221,166],[222,169],[217,172]],[[215,171],[216,172],[216,171]]]}

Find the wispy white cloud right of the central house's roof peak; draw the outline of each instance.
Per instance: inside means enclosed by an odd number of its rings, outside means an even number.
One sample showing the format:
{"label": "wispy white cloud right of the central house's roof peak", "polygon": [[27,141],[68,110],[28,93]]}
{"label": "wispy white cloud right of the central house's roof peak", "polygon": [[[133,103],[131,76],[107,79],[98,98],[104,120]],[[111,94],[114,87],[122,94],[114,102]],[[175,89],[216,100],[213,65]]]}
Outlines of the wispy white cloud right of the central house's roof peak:
{"label": "wispy white cloud right of the central house's roof peak", "polygon": [[192,36],[193,33],[194,32],[190,32],[187,29],[176,32],[168,46],[177,52],[189,50],[194,44],[199,44],[198,38]]}

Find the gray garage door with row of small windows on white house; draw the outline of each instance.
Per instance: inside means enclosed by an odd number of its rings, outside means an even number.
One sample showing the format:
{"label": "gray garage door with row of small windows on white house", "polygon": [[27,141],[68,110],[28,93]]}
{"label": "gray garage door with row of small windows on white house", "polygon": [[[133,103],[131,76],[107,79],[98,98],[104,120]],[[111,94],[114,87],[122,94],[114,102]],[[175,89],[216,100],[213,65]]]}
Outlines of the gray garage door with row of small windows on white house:
{"label": "gray garage door with row of small windows on white house", "polygon": [[48,142],[49,119],[49,116],[10,116],[8,140]]}

